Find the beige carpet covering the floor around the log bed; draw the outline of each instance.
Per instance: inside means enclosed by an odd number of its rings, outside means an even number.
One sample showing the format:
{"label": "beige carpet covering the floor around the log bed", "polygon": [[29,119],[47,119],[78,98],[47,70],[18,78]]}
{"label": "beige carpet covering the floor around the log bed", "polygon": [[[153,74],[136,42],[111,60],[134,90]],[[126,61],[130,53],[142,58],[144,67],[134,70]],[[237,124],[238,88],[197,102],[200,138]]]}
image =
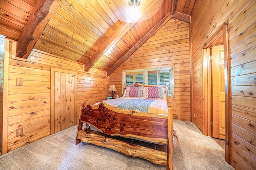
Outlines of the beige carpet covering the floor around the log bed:
{"label": "beige carpet covering the floor around the log bed", "polygon": [[[191,122],[176,121],[174,170],[231,170],[224,150]],[[74,145],[76,126],[0,156],[0,170],[165,170],[141,158],[92,144]],[[136,141],[135,141],[136,144]],[[150,145],[154,148],[154,145]],[[161,147],[159,147],[161,148]]]}

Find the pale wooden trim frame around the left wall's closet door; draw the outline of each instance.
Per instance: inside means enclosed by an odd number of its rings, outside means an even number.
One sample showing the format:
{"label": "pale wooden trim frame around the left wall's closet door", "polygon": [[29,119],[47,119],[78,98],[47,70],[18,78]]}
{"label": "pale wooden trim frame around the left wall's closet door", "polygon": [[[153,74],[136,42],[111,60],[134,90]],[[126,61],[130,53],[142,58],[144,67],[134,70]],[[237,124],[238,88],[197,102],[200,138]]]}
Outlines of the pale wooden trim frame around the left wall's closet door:
{"label": "pale wooden trim frame around the left wall's closet door", "polygon": [[64,70],[59,68],[51,68],[51,94],[50,94],[50,116],[51,116],[51,135],[55,133],[55,115],[54,115],[54,100],[55,100],[55,72],[64,72],[68,74],[74,74],[74,117],[76,122],[76,72],[72,70]]}

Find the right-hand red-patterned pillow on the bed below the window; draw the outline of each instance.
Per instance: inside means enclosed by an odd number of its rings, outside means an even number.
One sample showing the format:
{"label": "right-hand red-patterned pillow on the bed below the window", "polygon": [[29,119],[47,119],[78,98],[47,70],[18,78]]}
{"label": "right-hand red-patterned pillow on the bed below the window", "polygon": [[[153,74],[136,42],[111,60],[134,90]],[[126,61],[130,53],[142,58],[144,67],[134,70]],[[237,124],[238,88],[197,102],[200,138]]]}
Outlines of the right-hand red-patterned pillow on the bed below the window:
{"label": "right-hand red-patterned pillow on the bed below the window", "polygon": [[162,86],[144,87],[142,90],[143,98],[164,98]]}

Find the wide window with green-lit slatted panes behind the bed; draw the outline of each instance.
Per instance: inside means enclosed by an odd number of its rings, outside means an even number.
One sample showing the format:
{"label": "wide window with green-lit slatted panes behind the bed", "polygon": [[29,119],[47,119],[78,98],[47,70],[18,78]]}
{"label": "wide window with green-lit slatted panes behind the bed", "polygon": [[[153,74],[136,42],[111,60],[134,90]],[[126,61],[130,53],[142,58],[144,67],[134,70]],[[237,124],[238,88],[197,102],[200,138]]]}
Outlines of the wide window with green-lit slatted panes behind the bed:
{"label": "wide window with green-lit slatted panes behind the bed", "polygon": [[174,97],[174,67],[124,70],[123,84],[135,83],[168,86],[168,96]]}

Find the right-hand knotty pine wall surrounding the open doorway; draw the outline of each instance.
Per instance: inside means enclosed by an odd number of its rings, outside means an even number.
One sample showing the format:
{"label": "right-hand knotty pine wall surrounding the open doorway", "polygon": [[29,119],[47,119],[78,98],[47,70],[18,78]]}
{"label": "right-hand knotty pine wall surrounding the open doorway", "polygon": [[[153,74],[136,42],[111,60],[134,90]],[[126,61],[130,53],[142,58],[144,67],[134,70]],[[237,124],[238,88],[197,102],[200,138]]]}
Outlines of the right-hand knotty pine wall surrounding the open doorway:
{"label": "right-hand knotty pine wall surrounding the open doorway", "polygon": [[[196,1],[191,42],[195,125],[203,131],[202,48],[228,22],[230,79],[230,164],[256,169],[256,1]],[[196,92],[196,94],[195,94]]]}

